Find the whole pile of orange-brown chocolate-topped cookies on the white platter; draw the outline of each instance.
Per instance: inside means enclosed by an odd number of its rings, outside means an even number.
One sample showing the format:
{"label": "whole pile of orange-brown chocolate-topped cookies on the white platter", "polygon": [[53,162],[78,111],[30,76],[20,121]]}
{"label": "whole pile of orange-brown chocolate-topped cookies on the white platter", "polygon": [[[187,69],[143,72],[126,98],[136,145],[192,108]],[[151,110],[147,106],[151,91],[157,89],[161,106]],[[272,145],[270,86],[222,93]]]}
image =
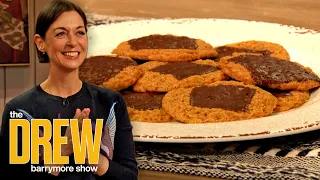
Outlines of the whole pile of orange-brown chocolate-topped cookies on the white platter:
{"label": "whole pile of orange-brown chocolate-topped cookies on the white platter", "polygon": [[212,47],[201,39],[153,34],[94,56],[80,78],[122,93],[130,119],[209,123],[265,117],[303,105],[320,78],[279,44]]}

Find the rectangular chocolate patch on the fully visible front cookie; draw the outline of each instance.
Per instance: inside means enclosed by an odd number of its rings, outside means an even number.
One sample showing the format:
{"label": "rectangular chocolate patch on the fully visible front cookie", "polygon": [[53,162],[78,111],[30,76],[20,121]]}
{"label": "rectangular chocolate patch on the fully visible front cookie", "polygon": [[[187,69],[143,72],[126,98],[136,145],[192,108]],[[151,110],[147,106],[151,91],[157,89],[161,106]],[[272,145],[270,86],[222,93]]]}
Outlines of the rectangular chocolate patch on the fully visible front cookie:
{"label": "rectangular chocolate patch on the fully visible front cookie", "polygon": [[233,85],[202,86],[192,90],[190,105],[201,108],[221,108],[247,111],[256,90]]}

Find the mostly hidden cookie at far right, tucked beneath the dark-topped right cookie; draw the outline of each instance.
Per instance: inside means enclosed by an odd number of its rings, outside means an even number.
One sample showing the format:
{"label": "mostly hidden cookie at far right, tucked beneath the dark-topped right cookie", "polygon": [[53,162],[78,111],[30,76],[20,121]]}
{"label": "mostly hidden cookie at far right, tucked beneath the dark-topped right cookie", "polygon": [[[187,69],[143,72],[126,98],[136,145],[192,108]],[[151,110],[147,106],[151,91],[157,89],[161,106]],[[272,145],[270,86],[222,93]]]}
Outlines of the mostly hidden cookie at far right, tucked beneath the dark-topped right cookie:
{"label": "mostly hidden cookie at far right, tucked beneath the dark-topped right cookie", "polygon": [[310,97],[309,91],[281,91],[274,89],[267,89],[267,91],[278,99],[274,112],[283,112],[300,107],[308,102]]}

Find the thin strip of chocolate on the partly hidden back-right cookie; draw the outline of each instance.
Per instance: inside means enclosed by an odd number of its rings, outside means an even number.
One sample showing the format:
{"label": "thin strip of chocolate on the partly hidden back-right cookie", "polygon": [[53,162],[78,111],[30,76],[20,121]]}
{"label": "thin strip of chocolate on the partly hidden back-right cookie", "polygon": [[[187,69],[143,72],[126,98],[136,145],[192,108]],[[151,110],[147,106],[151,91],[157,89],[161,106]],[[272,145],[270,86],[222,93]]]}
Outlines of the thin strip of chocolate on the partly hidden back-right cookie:
{"label": "thin strip of chocolate on the partly hidden back-right cookie", "polygon": [[253,50],[253,49],[235,48],[235,47],[228,47],[228,46],[217,47],[216,51],[218,52],[218,56],[215,59],[216,61],[219,61],[221,57],[231,56],[235,52],[237,52],[237,53],[256,53],[256,54],[262,54],[264,56],[271,55],[271,52],[268,50],[257,51],[257,50]]}

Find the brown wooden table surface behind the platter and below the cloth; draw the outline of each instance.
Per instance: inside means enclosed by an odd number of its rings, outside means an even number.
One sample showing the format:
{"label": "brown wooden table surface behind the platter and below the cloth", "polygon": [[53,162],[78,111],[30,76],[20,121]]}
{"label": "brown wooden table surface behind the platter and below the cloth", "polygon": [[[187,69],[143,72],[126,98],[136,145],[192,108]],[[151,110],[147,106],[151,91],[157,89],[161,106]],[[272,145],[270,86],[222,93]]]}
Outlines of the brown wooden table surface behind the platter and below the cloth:
{"label": "brown wooden table surface behind the platter and below the cloth", "polygon": [[[151,18],[226,18],[320,30],[320,0],[72,0],[87,13]],[[140,170],[140,180],[216,178]]]}

